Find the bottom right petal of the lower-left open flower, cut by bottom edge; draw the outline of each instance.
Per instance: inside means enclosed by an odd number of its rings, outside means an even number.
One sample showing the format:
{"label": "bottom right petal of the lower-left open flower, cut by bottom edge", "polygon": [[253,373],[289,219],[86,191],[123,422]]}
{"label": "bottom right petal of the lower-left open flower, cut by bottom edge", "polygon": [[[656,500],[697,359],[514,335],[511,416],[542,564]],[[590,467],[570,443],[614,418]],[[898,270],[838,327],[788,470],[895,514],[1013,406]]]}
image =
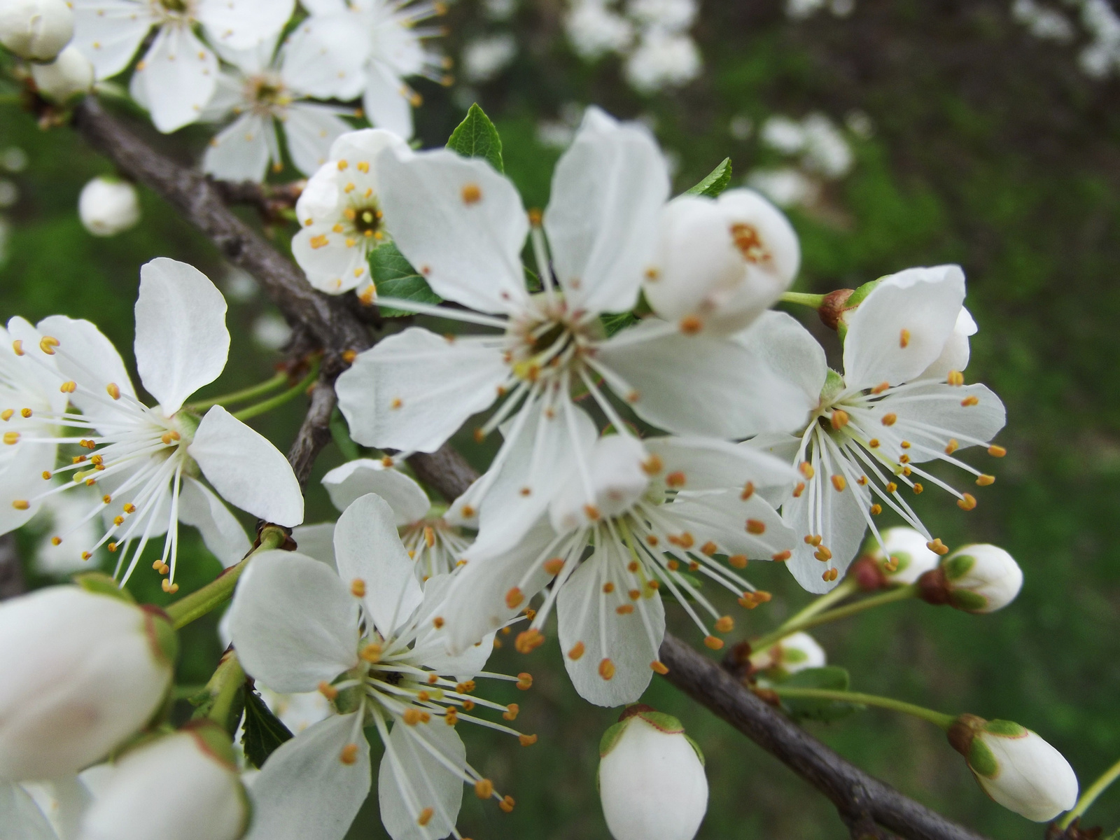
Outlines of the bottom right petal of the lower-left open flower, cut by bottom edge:
{"label": "bottom right petal of the lower-left open flower, cut by bottom edge", "polygon": [[[463,778],[418,744],[418,737],[452,766],[464,767],[467,763],[463,740],[455,727],[447,726],[442,719],[433,718],[430,724],[416,727],[400,721],[393,725],[377,771],[381,822],[393,840],[439,840],[447,837],[455,827],[463,803]],[[426,808],[435,813],[428,824],[421,827],[417,820]]]}

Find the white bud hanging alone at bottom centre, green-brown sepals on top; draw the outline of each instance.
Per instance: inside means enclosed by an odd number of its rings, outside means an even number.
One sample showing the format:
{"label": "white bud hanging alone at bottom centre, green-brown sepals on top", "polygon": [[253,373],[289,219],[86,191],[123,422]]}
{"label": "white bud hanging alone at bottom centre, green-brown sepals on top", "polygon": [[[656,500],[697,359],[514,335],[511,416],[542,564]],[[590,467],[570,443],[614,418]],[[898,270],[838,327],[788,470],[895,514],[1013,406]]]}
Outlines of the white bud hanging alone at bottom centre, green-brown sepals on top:
{"label": "white bud hanging alone at bottom centre, green-brown sepals on top", "polygon": [[708,810],[703,755],[676,718],[632,706],[599,743],[599,797],[615,840],[691,840]]}

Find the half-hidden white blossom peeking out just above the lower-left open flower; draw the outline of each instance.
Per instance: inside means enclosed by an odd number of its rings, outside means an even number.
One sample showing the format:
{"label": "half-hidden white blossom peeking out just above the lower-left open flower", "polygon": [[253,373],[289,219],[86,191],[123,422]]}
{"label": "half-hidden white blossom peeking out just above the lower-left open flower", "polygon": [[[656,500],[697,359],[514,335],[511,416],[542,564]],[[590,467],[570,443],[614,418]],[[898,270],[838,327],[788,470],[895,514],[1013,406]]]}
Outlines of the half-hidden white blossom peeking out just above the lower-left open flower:
{"label": "half-hidden white blossom peeking out just above the lower-left open flower", "polygon": [[376,493],[393,510],[401,542],[414,563],[420,582],[454,571],[472,540],[459,530],[460,523],[454,517],[448,522],[446,511],[432,505],[423,487],[393,469],[392,459],[388,460],[390,466],[361,458],[332,469],[323,476],[330,501],[339,511],[345,511],[355,500]]}

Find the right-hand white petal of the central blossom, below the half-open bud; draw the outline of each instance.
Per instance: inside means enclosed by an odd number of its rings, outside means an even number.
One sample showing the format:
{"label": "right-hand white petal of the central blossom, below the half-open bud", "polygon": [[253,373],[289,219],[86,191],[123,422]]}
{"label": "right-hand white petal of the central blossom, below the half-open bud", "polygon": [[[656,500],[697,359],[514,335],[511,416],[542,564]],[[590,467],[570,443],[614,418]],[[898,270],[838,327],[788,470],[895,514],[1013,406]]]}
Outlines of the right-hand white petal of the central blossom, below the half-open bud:
{"label": "right-hand white petal of the central blossom, below the half-open bud", "polygon": [[816,404],[730,339],[673,333],[637,340],[633,335],[662,328],[661,321],[644,320],[616,334],[622,340],[608,340],[598,353],[638,392],[634,411],[654,426],[681,435],[745,438],[803,426]]}

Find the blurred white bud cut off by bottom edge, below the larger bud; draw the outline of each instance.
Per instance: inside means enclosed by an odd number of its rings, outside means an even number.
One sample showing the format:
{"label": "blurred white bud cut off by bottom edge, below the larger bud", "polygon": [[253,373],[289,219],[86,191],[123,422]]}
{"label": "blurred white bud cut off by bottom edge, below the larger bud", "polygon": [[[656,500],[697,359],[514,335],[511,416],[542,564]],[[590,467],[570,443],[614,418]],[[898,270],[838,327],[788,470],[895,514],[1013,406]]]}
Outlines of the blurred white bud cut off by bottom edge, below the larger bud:
{"label": "blurred white bud cut off by bottom edge, below the larger bud", "polygon": [[125,753],[78,840],[237,840],[249,814],[230,737],[204,722]]}

